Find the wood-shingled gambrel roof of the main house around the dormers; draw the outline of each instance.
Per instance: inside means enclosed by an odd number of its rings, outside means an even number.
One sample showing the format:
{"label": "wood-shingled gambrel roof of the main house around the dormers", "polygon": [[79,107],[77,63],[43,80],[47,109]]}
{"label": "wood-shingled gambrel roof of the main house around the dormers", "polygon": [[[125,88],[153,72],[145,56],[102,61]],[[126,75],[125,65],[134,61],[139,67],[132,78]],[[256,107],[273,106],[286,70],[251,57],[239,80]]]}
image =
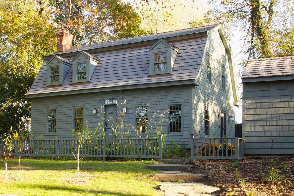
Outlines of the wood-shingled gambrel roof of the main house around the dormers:
{"label": "wood-shingled gambrel roof of the main house around the dormers", "polygon": [[[42,65],[27,98],[51,95],[65,95],[86,92],[113,91],[180,84],[197,85],[196,78],[203,61],[207,35],[210,31],[219,31],[229,57],[230,70],[233,70],[230,46],[225,38],[222,25],[209,25],[138,37],[118,39],[108,42],[83,45],[64,52],[45,56]],[[149,48],[163,39],[179,49],[171,74],[149,75]],[[98,66],[89,82],[72,83],[72,67],[69,68],[62,85],[46,86],[46,63],[53,55],[68,61],[84,51],[99,58]],[[232,72],[232,71],[231,71]],[[234,71],[232,72],[234,73]],[[233,78],[232,78],[233,77]],[[234,99],[238,99],[235,87],[235,75],[231,74]]]}

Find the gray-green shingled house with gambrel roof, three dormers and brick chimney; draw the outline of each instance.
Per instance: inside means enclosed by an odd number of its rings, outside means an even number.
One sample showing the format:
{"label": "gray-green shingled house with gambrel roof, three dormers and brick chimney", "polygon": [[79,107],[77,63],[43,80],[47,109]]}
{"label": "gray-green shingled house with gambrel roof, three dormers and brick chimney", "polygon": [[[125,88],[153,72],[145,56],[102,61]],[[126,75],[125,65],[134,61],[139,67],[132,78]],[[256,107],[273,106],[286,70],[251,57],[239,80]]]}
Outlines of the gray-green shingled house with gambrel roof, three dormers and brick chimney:
{"label": "gray-green shingled house with gambrel roof, three dormers and brick chimney", "polygon": [[[192,133],[234,136],[231,120],[239,100],[232,51],[222,25],[79,48],[71,47],[67,32],[57,35],[58,52],[45,56],[26,94],[32,103],[31,126],[44,139],[72,139],[71,130],[85,126],[85,121],[95,129],[102,123],[96,113],[101,106],[111,119],[125,112],[124,123],[134,127],[129,130],[132,136],[152,131],[159,120],[154,113],[165,108],[166,143],[189,145]],[[106,137],[112,137],[111,124],[105,124]]]}

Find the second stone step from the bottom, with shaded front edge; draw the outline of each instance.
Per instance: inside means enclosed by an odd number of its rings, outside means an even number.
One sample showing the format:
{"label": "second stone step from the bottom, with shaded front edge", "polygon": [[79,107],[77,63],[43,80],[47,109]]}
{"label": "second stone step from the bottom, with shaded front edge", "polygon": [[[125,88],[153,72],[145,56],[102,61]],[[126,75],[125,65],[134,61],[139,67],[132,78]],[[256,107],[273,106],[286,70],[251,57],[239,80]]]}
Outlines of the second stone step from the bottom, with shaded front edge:
{"label": "second stone step from the bottom, with shaded front edge", "polygon": [[205,179],[203,174],[181,174],[181,173],[157,173],[153,177],[157,181],[187,181],[187,182],[199,182]]}

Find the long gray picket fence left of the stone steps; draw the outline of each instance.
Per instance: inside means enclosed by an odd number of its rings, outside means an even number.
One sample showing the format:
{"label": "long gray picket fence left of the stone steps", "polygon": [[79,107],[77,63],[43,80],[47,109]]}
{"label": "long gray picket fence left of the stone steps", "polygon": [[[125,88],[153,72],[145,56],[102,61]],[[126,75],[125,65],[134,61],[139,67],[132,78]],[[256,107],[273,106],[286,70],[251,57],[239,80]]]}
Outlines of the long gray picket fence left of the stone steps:
{"label": "long gray picket fence left of the stone steps", "polygon": [[[75,140],[13,140],[13,156],[73,157]],[[4,141],[0,140],[0,155],[4,155]],[[121,157],[162,159],[162,135],[158,139],[89,139],[83,143],[80,157]]]}

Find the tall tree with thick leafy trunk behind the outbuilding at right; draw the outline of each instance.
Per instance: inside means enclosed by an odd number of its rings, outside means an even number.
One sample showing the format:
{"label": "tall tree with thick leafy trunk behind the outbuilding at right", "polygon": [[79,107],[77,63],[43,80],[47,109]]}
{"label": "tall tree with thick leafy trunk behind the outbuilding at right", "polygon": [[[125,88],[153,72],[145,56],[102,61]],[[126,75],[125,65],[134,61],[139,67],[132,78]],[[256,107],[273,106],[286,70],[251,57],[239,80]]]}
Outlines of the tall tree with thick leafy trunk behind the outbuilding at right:
{"label": "tall tree with thick leafy trunk behind the outbuilding at right", "polygon": [[[228,29],[245,31],[244,41],[249,44],[250,58],[276,56],[273,32],[293,22],[293,10],[288,9],[293,8],[293,0],[210,0],[209,3],[218,6],[209,10],[201,23],[221,22]],[[197,22],[190,24],[199,25]]]}

